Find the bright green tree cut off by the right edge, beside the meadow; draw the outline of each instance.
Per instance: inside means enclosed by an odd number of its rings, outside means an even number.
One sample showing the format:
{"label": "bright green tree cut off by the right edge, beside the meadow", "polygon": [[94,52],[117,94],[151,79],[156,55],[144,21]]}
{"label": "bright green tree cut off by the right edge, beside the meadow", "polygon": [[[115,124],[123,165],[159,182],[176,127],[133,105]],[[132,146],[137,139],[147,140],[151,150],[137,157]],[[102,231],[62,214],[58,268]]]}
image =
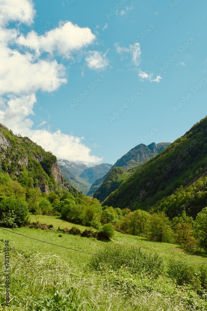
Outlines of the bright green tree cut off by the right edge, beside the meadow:
{"label": "bright green tree cut off by the right edge, beside the meadow", "polygon": [[200,248],[207,250],[207,207],[195,218],[195,238]]}

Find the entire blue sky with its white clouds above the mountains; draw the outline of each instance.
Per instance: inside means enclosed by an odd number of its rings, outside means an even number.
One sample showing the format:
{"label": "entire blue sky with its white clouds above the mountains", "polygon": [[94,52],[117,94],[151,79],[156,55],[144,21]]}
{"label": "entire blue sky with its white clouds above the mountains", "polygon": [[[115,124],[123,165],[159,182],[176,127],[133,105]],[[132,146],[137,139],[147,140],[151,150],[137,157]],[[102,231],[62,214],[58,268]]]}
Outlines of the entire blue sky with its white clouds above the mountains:
{"label": "entire blue sky with its white clouds above the mountains", "polygon": [[58,158],[113,164],[206,116],[206,1],[0,0],[0,9],[0,122]]}

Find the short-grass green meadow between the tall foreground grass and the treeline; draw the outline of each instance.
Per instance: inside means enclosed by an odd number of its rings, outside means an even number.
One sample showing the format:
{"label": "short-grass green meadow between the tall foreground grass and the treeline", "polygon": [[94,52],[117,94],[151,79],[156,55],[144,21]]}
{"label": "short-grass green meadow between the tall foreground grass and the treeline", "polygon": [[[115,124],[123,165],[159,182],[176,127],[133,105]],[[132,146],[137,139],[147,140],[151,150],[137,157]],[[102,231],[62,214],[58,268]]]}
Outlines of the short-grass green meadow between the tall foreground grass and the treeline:
{"label": "short-grass green meadow between the tall foreground grass and the treeline", "polygon": [[[36,216],[31,215],[31,220],[35,221],[35,217]],[[64,221],[54,216],[41,215],[39,217],[39,221],[41,223],[45,223],[48,225],[52,224],[55,229],[58,229],[58,227],[71,228],[72,226],[74,226],[74,224],[71,224],[67,221]],[[84,231],[86,228],[81,225],[76,226],[81,231]],[[115,233],[115,236],[112,241],[103,242],[95,238],[83,238],[71,234],[62,234],[62,237],[59,237],[58,235],[60,234],[60,232],[58,231],[30,229],[27,227],[9,230],[11,230],[12,232],[33,237],[35,239],[40,239],[53,244],[58,244],[90,253],[95,253],[102,245],[105,245],[106,243],[111,243],[111,244],[121,244],[123,245],[123,247],[125,245],[131,245],[137,248],[141,247],[141,250],[145,252],[157,252],[163,258],[163,261],[166,263],[171,259],[182,260],[188,263],[207,262],[206,253],[198,253],[198,254],[190,253],[189,251],[182,249],[178,245],[154,242],[142,237],[122,234],[119,232]],[[9,233],[4,230],[0,230],[0,239],[3,240],[9,239],[11,247],[21,248],[22,250],[34,250],[36,252],[60,256],[67,262],[73,263],[74,265],[77,266],[79,266],[80,264],[81,265],[87,264],[87,262],[90,259],[90,255],[88,254],[42,243],[36,240],[22,237],[14,233]]]}

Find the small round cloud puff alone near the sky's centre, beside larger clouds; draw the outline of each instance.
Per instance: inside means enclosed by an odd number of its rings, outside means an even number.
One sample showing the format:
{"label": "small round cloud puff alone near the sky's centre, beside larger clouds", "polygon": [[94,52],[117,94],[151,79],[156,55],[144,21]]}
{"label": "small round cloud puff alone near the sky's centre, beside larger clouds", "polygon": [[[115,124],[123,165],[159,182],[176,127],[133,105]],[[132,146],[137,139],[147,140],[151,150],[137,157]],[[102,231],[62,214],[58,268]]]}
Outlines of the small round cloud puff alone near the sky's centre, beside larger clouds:
{"label": "small round cloud puff alone near the sky's centre, beside larger clouds", "polygon": [[99,51],[89,51],[85,60],[90,69],[104,70],[109,65],[109,60],[106,58],[106,54]]}

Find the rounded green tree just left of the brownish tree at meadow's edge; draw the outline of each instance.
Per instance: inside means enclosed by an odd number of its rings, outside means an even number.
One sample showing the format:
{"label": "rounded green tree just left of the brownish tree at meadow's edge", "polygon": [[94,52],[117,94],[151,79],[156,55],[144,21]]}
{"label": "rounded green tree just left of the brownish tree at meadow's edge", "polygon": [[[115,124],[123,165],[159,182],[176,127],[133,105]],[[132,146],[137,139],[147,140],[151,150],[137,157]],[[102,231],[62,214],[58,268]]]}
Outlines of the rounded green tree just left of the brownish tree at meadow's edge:
{"label": "rounded green tree just left of the brownish tree at meadow's edge", "polygon": [[154,213],[150,217],[150,239],[157,242],[173,242],[174,233],[169,218],[164,212]]}

